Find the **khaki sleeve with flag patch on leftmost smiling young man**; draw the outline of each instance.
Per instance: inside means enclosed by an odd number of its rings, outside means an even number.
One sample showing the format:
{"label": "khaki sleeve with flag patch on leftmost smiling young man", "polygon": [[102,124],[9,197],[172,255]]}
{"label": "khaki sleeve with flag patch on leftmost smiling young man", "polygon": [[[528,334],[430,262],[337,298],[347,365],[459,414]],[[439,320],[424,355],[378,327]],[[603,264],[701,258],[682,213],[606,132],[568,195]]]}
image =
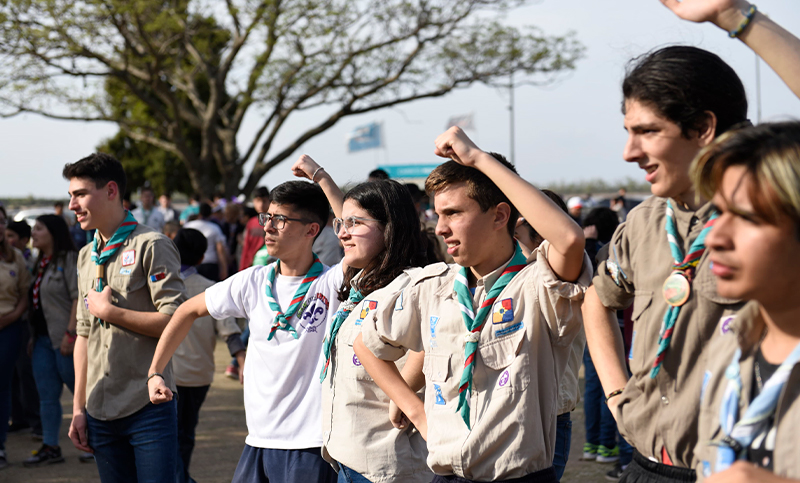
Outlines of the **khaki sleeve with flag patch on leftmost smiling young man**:
{"label": "khaki sleeve with flag patch on leftmost smiling young man", "polygon": [[142,268],[147,277],[150,299],[162,314],[172,315],[186,300],[180,260],[175,244],[163,235],[145,244]]}

